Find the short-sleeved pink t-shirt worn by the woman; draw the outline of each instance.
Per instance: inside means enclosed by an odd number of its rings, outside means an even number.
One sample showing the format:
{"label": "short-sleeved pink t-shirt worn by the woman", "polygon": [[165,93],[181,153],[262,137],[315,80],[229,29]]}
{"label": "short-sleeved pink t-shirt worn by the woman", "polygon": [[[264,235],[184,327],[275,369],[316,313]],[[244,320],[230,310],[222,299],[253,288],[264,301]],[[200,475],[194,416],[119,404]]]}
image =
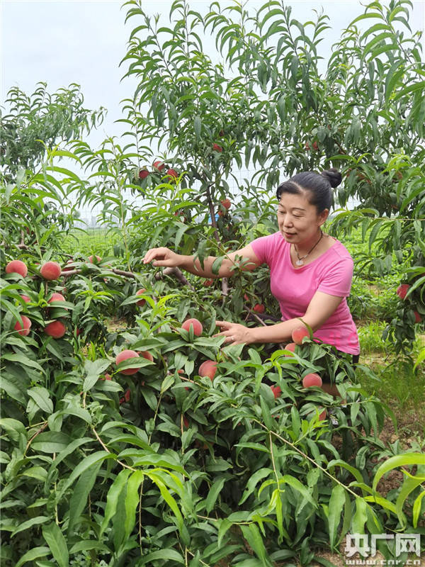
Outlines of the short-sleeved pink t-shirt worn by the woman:
{"label": "short-sleeved pink t-shirt worn by the woman", "polygon": [[279,302],[282,320],[305,315],[316,291],[344,297],[314,337],[342,352],[359,354],[357,329],[346,301],[353,279],[353,259],[346,247],[336,240],[313,262],[295,269],[290,259],[290,242],[280,232],[256,238],[251,246],[261,263],[270,267],[271,293]]}

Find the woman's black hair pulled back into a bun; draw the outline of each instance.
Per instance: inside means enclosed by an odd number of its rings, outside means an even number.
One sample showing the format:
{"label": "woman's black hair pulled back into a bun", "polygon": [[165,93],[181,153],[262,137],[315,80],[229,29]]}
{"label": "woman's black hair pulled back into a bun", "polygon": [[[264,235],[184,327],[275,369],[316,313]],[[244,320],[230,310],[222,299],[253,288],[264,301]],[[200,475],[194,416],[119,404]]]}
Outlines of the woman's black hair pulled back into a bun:
{"label": "woman's black hair pulled back into a bun", "polygon": [[288,181],[283,181],[276,190],[276,197],[280,201],[282,193],[302,195],[308,193],[308,202],[317,208],[317,213],[327,208],[330,209],[334,203],[332,188],[339,186],[342,176],[338,169],[332,167],[325,169],[322,173],[302,172],[294,175]]}

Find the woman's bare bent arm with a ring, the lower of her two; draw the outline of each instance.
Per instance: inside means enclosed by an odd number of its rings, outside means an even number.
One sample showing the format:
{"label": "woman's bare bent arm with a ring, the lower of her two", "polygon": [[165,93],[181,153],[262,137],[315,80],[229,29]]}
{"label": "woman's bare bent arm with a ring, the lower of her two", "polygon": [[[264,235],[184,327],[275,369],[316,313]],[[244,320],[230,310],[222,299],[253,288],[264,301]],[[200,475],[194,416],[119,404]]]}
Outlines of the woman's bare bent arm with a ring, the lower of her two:
{"label": "woman's bare bent arm with a ring, the lower of her two", "polygon": [[[319,327],[322,327],[343,299],[342,297],[331,296],[329,293],[316,291],[305,315],[302,316],[302,320],[312,327],[314,332]],[[246,344],[254,342],[290,342],[293,331],[298,327],[304,327],[299,318],[288,319],[267,327],[245,327],[244,325],[227,321],[216,321],[216,325],[222,329],[222,332],[218,333],[218,335],[228,337],[227,344],[239,344],[242,342]]]}

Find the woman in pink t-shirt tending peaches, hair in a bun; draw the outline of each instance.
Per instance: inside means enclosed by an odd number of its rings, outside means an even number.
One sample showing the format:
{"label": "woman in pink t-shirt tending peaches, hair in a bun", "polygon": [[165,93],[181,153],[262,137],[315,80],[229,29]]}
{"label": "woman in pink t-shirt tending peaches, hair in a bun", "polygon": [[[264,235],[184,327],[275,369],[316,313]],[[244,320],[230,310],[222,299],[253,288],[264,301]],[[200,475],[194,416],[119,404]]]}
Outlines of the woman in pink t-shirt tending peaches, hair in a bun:
{"label": "woman in pink t-shirt tending peaches, hair in a bun", "polygon": [[[353,278],[353,259],[334,237],[322,232],[332,203],[332,187],[341,183],[341,174],[329,169],[317,174],[302,172],[278,186],[278,232],[253,240],[223,260],[218,275],[211,267],[215,257],[204,260],[182,256],[168,248],[153,248],[144,263],[154,266],[179,266],[205,278],[232,276],[234,262],[240,269],[254,270],[263,263],[271,271],[271,293],[280,304],[283,322],[267,327],[245,327],[238,323],[217,321],[227,337],[227,344],[288,342],[293,330],[303,321],[314,336],[333,344],[341,352],[360,352],[346,298]],[[243,258],[241,262],[241,258]]]}

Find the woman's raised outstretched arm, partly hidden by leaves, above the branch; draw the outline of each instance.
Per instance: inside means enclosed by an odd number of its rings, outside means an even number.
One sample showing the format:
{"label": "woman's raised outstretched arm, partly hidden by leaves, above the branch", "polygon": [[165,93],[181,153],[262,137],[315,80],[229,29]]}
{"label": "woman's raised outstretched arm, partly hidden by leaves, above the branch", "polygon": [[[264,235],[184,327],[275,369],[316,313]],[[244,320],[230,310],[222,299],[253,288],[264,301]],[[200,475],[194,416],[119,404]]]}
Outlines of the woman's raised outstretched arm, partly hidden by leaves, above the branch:
{"label": "woman's raised outstretched arm, partly hidden by leaves, above the branch", "polygon": [[232,268],[237,264],[239,264],[239,269],[244,271],[251,271],[261,264],[251,245],[226,254],[218,274],[212,273],[212,264],[215,262],[215,259],[214,256],[206,257],[202,268],[198,258],[194,260],[193,256],[183,256],[182,254],[172,252],[169,248],[161,247],[148,250],[143,263],[147,264],[154,260],[154,266],[179,267],[189,271],[191,274],[204,278],[228,278],[233,275],[234,269]]}

